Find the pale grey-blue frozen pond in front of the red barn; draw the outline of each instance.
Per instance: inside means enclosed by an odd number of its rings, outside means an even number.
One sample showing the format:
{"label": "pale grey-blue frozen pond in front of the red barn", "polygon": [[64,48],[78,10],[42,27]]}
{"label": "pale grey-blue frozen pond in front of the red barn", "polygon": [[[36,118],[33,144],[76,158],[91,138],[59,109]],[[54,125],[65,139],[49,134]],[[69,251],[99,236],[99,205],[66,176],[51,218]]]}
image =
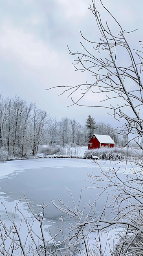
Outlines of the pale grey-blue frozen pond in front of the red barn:
{"label": "pale grey-blue frozen pond in front of the red barn", "polygon": [[[88,186],[86,173],[98,172],[97,166],[88,159],[33,159],[17,160],[1,164],[6,171],[12,168],[12,173],[1,177],[0,192],[4,192],[5,200],[13,202],[23,197],[32,202],[33,206],[57,202],[57,196],[66,204],[70,204],[71,197],[66,187],[72,192],[75,202],[79,200],[81,188]],[[4,174],[4,170],[2,170]],[[81,207],[95,198],[94,191],[83,188]],[[70,204],[71,205],[71,204]],[[35,212],[39,213],[38,207]],[[54,218],[61,213],[52,204],[46,209],[46,218]]]}

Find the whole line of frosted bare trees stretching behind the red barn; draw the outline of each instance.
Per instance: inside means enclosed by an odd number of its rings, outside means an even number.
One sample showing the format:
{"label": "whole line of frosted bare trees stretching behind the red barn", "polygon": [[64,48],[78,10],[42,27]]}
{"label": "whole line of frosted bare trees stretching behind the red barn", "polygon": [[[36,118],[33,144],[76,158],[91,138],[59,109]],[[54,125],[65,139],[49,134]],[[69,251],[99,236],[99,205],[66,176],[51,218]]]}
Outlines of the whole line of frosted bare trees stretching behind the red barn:
{"label": "whole line of frosted bare trees stretching behind the red barn", "polygon": [[[94,123],[90,124],[90,129],[89,117]],[[85,124],[82,126],[75,119],[67,117],[57,121],[35,103],[27,103],[18,96],[4,99],[0,95],[0,148],[7,150],[9,156],[35,156],[42,144],[51,147],[67,144],[87,146],[89,135],[94,132],[110,135],[116,144],[123,144],[123,138],[115,134],[115,129],[103,122],[95,122],[90,115]]]}

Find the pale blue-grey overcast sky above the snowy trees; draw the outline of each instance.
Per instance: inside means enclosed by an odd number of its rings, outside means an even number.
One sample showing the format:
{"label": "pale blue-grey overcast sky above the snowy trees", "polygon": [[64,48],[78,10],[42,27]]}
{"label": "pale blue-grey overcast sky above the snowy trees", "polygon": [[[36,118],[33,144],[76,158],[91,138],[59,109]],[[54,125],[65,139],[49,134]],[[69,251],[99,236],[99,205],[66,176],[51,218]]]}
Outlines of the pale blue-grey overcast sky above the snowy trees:
{"label": "pale blue-grey overcast sky above the snowy trees", "polygon": [[[88,9],[90,3],[90,0],[0,1],[0,92],[4,97],[18,95],[27,102],[35,102],[57,121],[68,117],[85,124],[91,115],[95,121],[116,126],[106,110],[67,107],[71,103],[67,94],[57,96],[60,90],[45,90],[90,79],[91,74],[87,72],[75,72],[73,57],[67,49],[68,45],[73,52],[78,51],[80,30],[89,39],[98,34],[94,16]],[[138,41],[143,40],[143,1],[103,0],[103,3],[123,29],[138,28],[129,37],[137,48]],[[106,19],[106,13],[101,10],[102,14]],[[96,97],[88,95],[85,103],[95,105]]]}

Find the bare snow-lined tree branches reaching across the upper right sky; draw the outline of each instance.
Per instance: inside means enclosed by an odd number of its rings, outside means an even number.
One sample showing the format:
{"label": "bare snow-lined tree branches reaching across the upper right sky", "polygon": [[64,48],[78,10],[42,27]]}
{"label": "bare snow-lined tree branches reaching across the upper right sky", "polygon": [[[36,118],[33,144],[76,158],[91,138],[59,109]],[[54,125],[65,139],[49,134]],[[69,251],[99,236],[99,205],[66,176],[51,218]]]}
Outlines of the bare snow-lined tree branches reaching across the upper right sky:
{"label": "bare snow-lined tree branches reaching across the upper right sky", "polygon": [[[93,83],[86,82],[77,86],[63,86],[63,92],[69,91],[73,104],[85,106],[80,101],[91,92],[105,95],[104,100],[99,105],[93,107],[103,107],[110,111],[115,119],[125,121],[124,127],[120,132],[132,132],[136,143],[143,148],[143,51],[134,50],[128,43],[126,32],[119,22],[106,9],[102,1],[101,6],[107,11],[108,15],[117,26],[116,32],[112,32],[108,22],[103,22],[97,9],[96,1],[91,0],[89,9],[95,17],[95,24],[99,30],[100,38],[97,41],[86,39],[81,34],[85,44],[81,42],[82,51],[69,53],[75,56],[74,67],[78,71],[88,71],[93,76]],[[132,31],[134,32],[134,31]],[[97,33],[98,34],[98,33]],[[142,43],[142,42],[141,42]],[[125,64],[121,63],[120,56],[124,56]],[[57,86],[56,86],[57,87]],[[59,86],[58,86],[59,87]],[[49,90],[49,89],[47,89]],[[81,96],[74,100],[74,94],[77,96],[78,90],[81,90]],[[109,102],[109,104],[108,104]],[[138,141],[141,138],[141,141]]]}

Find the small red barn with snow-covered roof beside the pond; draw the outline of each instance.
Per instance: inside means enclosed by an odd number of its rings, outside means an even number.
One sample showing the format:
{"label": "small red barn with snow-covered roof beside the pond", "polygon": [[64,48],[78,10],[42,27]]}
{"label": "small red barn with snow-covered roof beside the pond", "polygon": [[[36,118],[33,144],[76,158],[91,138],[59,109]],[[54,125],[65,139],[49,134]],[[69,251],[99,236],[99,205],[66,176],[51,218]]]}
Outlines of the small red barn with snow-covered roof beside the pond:
{"label": "small red barn with snow-covered roof beside the pond", "polygon": [[114,141],[109,135],[94,134],[88,142],[88,149],[101,148],[101,146],[113,148],[114,144]]}

